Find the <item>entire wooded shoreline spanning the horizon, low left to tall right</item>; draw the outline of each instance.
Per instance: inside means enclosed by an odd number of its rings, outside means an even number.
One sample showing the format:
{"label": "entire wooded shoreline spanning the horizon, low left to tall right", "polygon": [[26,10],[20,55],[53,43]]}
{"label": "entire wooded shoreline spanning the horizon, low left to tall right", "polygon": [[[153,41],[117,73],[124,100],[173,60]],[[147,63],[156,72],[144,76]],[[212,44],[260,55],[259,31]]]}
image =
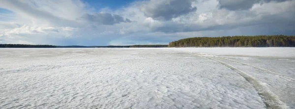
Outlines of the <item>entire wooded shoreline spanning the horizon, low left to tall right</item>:
{"label": "entire wooded shoreline spanning the horizon, low left to tall right", "polygon": [[169,44],[137,44],[137,45],[42,45],[42,44],[0,44],[0,48],[143,48],[143,47],[295,47],[295,36],[226,36],[186,38]]}

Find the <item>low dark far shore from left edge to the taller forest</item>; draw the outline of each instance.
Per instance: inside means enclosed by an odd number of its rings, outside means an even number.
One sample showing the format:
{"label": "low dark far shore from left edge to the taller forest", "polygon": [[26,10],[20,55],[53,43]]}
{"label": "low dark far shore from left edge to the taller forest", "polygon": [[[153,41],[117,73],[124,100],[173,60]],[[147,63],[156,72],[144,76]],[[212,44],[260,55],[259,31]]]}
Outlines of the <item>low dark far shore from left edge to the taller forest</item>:
{"label": "low dark far shore from left edge to the taller forest", "polygon": [[108,45],[108,46],[56,46],[43,44],[0,44],[0,48],[129,48],[129,47],[168,47],[167,44],[150,44],[150,45]]}

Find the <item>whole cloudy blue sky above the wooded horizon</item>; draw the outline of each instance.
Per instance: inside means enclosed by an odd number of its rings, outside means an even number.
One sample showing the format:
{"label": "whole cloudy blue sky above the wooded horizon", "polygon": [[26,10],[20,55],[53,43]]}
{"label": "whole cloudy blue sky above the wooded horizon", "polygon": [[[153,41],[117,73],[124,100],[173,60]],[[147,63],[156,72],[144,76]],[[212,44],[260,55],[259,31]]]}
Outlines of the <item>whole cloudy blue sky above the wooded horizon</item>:
{"label": "whole cloudy blue sky above the wooded horizon", "polygon": [[295,0],[0,0],[0,44],[168,44],[295,35]]}

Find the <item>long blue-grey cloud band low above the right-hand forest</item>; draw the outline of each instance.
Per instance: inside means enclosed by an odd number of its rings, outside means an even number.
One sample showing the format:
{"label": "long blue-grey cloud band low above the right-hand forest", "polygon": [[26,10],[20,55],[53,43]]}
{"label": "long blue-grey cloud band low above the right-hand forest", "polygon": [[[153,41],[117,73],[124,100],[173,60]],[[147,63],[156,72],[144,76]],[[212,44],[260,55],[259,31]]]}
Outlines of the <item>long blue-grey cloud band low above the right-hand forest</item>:
{"label": "long blue-grey cloud band low above the right-hand forest", "polygon": [[[292,12],[294,13],[294,12]],[[282,17],[288,16],[288,17]],[[228,24],[214,24],[211,26],[202,26],[199,24],[186,24],[177,22],[165,22],[162,26],[151,28],[154,32],[165,32],[165,33],[177,33],[177,32],[193,32],[193,31],[219,31],[219,30],[231,30],[237,27],[267,27],[268,29],[260,29],[261,33],[273,33],[273,34],[286,34],[284,31],[290,33],[295,29],[295,14],[290,12],[280,13],[276,15],[265,15],[261,20],[251,20],[248,22],[239,22]],[[212,21],[213,22],[213,21]],[[257,26],[259,25],[259,26]],[[255,31],[253,29],[252,31]],[[289,35],[289,34],[288,34]]]}

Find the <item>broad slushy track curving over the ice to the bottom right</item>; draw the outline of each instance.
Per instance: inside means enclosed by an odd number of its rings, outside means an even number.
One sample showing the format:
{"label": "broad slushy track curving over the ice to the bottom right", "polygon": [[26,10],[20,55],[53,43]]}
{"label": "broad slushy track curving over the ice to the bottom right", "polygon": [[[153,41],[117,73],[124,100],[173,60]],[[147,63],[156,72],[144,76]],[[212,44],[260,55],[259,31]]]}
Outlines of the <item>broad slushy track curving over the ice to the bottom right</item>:
{"label": "broad slushy track curving over the ice to the bottom right", "polygon": [[[258,94],[263,98],[267,109],[286,109],[288,107],[284,102],[280,101],[279,98],[274,93],[272,93],[270,90],[268,90],[268,88],[266,86],[264,86],[260,81],[256,80],[251,75],[237,69],[236,67],[234,67],[232,65],[226,64],[222,61],[210,58],[210,57],[202,55],[202,54],[196,54],[196,55],[201,56],[201,57],[205,57],[207,59],[213,60],[215,62],[222,64],[222,65],[225,65],[225,66],[229,67],[230,69],[234,70],[239,75],[241,75],[246,81],[248,81],[250,84],[252,84],[253,87],[257,90]],[[240,63],[240,64],[242,64],[242,63]],[[242,64],[242,65],[247,65],[247,64]],[[250,66],[252,66],[252,65],[250,65]],[[256,67],[256,68],[263,69],[263,68],[259,68],[259,67]]]}

